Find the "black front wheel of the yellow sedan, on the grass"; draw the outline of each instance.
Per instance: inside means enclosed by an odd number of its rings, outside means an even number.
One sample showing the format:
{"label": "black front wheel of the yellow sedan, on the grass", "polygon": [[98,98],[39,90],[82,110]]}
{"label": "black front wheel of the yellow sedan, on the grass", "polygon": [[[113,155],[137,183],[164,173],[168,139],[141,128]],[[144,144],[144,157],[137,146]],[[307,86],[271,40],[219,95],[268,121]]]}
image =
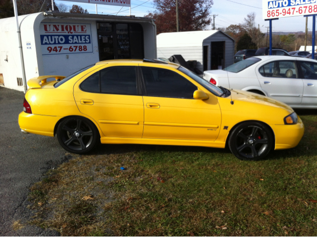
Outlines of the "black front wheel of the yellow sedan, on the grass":
{"label": "black front wheel of the yellow sedan, on the grass", "polygon": [[271,129],[260,122],[244,122],[232,131],[228,145],[240,160],[261,160],[274,146]]}

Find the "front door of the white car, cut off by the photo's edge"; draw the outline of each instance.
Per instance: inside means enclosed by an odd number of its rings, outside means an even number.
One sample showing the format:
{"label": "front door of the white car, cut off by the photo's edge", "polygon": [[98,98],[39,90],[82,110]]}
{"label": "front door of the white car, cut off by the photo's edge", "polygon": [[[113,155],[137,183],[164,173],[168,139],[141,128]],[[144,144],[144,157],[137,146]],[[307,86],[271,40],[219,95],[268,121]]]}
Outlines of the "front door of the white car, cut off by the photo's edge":
{"label": "front door of the white car, cut off by the photo's edge", "polygon": [[302,70],[304,84],[302,106],[317,107],[317,63],[297,61]]}

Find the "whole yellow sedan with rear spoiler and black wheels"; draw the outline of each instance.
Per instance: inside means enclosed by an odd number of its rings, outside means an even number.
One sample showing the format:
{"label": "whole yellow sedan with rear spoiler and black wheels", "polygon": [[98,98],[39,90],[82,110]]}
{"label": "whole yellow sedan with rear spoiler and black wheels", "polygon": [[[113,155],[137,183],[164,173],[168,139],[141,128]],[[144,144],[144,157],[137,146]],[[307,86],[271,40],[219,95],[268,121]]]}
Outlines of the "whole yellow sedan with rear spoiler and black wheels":
{"label": "whole yellow sedan with rear spoiler and black wheels", "polygon": [[[53,81],[48,79],[54,78]],[[98,143],[224,148],[242,160],[296,146],[304,125],[277,100],[216,87],[177,64],[98,62],[68,77],[28,81],[19,115],[24,133],[53,137],[67,151]]]}

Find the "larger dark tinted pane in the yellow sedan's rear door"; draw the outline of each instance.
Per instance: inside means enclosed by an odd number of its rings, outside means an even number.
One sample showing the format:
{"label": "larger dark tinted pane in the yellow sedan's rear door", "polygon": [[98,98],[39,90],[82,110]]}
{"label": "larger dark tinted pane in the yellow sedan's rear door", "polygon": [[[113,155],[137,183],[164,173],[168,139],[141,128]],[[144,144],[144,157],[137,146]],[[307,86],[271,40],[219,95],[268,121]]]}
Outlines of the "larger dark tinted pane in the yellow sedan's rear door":
{"label": "larger dark tinted pane in the yellow sedan's rear door", "polygon": [[100,73],[101,92],[138,95],[136,67],[109,67]]}

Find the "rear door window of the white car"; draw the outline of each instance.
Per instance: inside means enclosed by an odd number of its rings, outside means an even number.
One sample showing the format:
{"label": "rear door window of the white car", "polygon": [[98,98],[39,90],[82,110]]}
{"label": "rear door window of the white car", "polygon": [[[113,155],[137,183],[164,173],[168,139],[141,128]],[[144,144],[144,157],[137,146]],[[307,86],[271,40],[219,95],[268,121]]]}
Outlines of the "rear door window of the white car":
{"label": "rear door window of the white car", "polygon": [[264,77],[298,78],[294,61],[274,61],[265,64],[259,72]]}

